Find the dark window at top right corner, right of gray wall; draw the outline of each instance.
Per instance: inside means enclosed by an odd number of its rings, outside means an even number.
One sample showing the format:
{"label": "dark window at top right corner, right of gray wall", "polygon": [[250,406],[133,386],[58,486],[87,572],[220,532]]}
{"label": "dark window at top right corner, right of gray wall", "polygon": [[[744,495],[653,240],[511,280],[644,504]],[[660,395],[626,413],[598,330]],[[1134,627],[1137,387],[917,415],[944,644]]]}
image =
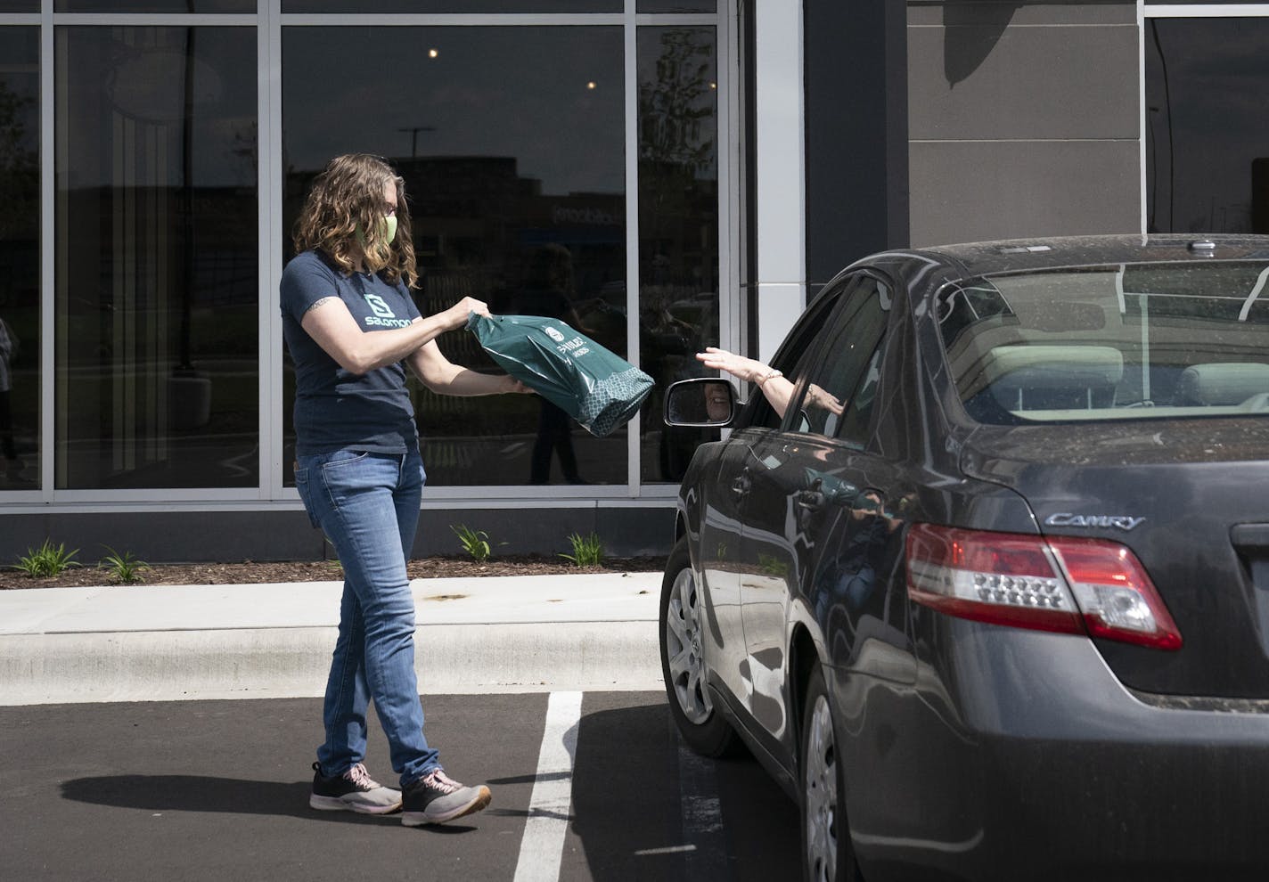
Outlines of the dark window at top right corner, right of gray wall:
{"label": "dark window at top right corner, right of gray wall", "polygon": [[1269,232],[1269,18],[1146,19],[1146,227]]}

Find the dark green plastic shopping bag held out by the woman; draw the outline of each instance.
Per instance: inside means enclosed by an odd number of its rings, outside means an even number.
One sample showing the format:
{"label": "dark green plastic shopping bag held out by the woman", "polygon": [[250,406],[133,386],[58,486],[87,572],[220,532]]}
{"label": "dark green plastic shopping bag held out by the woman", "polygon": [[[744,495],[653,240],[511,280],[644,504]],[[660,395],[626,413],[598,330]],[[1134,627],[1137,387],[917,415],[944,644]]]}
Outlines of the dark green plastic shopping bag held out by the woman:
{"label": "dark green plastic shopping bag held out by the woman", "polygon": [[558,319],[467,319],[485,352],[509,374],[552,402],[596,438],[634,416],[652,378]]}

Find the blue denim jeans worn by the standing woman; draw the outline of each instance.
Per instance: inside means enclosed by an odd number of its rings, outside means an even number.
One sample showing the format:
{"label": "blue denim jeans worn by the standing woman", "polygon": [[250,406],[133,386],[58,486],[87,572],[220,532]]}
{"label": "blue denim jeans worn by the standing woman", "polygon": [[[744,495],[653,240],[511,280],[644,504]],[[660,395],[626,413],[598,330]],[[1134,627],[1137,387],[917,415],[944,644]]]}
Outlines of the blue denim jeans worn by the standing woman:
{"label": "blue denim jeans worn by the standing woman", "polygon": [[322,708],[326,741],[317,749],[322,774],[340,774],[365,758],[365,711],[372,698],[401,786],[439,765],[423,735],[414,595],[405,570],[423,482],[418,451],[336,451],[296,461],[305,509],[344,567],[339,640]]}

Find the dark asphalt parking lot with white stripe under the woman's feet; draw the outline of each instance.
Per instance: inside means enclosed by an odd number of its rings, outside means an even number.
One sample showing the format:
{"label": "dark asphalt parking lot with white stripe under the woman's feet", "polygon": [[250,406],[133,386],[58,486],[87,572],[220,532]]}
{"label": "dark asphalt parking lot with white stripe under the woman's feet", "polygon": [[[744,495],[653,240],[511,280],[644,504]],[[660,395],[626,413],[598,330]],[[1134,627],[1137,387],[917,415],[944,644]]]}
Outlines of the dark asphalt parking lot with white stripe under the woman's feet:
{"label": "dark asphalt parking lot with white stripe under the woman's feet", "polygon": [[[321,699],[0,707],[15,879],[779,879],[797,808],[749,758],[680,747],[664,693],[426,695],[485,812],[443,827],[307,806]],[[372,774],[395,784],[377,722]]]}

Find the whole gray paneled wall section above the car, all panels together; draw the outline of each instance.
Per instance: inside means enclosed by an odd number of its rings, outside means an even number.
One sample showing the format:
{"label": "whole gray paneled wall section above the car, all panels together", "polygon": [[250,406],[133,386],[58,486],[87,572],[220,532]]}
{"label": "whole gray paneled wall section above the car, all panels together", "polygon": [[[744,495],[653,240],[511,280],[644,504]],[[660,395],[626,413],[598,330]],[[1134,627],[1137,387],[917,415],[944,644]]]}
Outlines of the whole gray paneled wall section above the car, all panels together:
{"label": "whole gray paneled wall section above the car, all panels together", "polygon": [[912,245],[1141,228],[1136,4],[909,5]]}

